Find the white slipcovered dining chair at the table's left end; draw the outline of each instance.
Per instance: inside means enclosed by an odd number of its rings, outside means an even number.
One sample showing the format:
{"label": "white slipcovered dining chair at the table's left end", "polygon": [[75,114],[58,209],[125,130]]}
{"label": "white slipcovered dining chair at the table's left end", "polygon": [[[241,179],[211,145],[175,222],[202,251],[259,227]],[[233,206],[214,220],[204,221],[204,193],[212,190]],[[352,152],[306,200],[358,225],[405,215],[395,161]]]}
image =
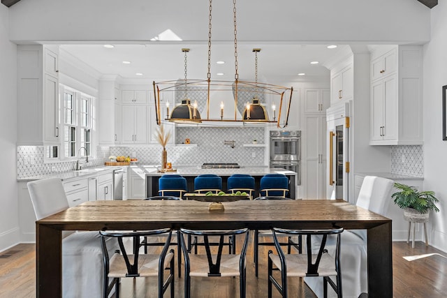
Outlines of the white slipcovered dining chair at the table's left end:
{"label": "white slipcovered dining chair at the table's left end", "polygon": [[[29,181],[27,186],[37,220],[68,209],[61,179]],[[62,238],[62,297],[101,297],[103,252],[99,232],[63,231]],[[116,239],[108,241],[113,255],[118,243]]]}

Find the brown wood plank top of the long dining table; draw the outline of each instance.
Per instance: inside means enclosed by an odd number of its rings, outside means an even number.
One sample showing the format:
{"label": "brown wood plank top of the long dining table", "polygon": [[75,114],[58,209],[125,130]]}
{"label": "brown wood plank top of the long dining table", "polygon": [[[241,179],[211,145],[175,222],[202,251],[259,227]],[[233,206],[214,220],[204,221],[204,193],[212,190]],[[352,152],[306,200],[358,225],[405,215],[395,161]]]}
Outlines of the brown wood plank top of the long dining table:
{"label": "brown wood plank top of the long dining table", "polygon": [[389,218],[356,207],[343,200],[240,200],[224,202],[224,211],[208,211],[208,202],[180,201],[94,201],[85,202],[38,221],[57,230],[291,227],[368,229]]}

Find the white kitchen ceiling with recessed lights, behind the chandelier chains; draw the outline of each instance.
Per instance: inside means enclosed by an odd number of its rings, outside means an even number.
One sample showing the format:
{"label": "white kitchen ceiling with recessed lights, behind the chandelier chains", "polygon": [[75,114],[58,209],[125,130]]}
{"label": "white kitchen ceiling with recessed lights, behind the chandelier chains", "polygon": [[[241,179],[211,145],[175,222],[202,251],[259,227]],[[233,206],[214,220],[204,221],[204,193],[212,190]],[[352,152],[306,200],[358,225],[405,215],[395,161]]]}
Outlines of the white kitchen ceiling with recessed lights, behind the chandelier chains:
{"label": "white kitchen ceiling with recessed lights, behind the chandelier chains", "polygon": [[[208,47],[204,43],[148,43],[123,45],[113,48],[103,45],[61,45],[65,54],[85,62],[102,75],[119,75],[129,80],[176,80],[184,78],[184,52],[187,53],[187,78],[206,79]],[[334,57],[342,55],[349,47],[339,45],[249,44],[237,45],[237,73],[240,80],[255,80],[258,52],[258,81],[278,84],[280,82],[329,80],[330,72],[325,67]],[[234,80],[235,46],[233,43],[217,43],[211,46],[210,74],[212,80]],[[123,64],[129,61],[131,64]],[[217,64],[224,61],[225,64]],[[318,64],[311,64],[318,61]],[[136,75],[141,73],[142,75]],[[223,75],[217,75],[223,73]],[[305,73],[305,75],[298,75]]]}

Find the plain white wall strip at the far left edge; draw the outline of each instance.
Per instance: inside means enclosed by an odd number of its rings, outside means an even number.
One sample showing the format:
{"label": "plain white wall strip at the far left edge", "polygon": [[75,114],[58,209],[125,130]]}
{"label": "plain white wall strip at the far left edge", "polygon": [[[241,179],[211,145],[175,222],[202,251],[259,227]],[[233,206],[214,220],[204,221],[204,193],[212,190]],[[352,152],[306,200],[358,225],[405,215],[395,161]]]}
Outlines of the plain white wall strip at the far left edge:
{"label": "plain white wall strip at the far left edge", "polygon": [[0,5],[0,251],[19,241],[15,170],[17,142],[16,45],[8,38],[8,8]]}

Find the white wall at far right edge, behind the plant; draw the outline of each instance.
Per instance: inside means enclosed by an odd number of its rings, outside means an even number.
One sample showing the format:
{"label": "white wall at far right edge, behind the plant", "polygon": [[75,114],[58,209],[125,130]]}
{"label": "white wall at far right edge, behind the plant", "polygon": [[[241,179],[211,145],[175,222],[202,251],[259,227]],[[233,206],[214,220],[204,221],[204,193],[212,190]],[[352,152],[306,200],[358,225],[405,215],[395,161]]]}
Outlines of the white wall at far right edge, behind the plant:
{"label": "white wall at far right edge, behind the plant", "polygon": [[428,234],[433,246],[447,251],[447,142],[442,140],[442,86],[447,85],[447,1],[432,8],[432,40],[424,46],[424,190],[437,193]]}

